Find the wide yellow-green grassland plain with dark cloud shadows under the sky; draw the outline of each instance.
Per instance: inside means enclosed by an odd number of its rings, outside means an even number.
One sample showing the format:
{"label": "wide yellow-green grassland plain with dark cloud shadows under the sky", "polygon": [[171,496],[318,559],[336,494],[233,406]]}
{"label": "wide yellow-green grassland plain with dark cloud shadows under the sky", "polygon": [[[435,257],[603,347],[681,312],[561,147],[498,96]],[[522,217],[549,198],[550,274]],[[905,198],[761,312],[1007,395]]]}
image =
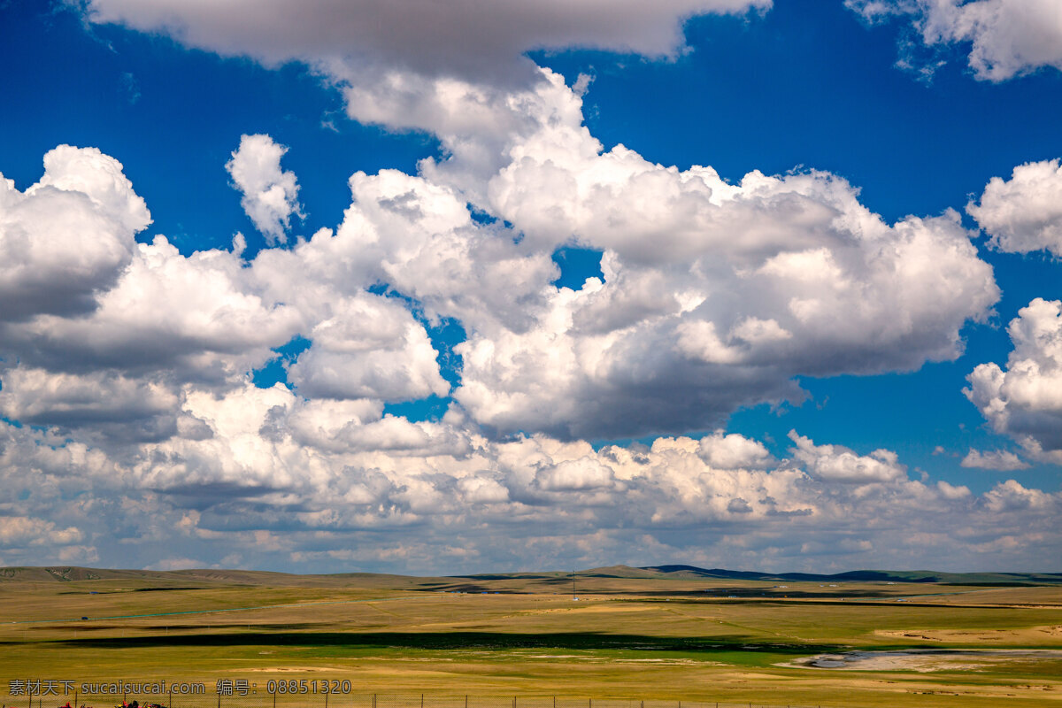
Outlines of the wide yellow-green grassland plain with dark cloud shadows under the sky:
{"label": "wide yellow-green grassland plain with dark cloud shadows under the sky", "polygon": [[218,678],[294,677],[362,694],[1062,707],[1062,652],[930,657],[921,671],[789,666],[850,650],[1062,650],[1062,585],[920,580],[612,568],[581,573],[575,601],[564,573],[0,569],[0,700],[24,704],[3,695],[18,678],[202,681],[212,695]]}

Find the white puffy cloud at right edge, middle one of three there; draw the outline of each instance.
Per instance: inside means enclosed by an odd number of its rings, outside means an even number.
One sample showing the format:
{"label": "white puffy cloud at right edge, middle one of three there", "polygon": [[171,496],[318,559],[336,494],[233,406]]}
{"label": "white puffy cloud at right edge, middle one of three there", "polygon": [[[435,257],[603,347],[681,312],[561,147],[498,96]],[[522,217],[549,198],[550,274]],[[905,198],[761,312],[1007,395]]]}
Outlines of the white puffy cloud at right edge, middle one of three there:
{"label": "white puffy cloud at right edge, middle one of three there", "polygon": [[966,211],[992,236],[992,245],[1012,254],[1049,251],[1062,256],[1062,165],[1027,162],[1009,180],[992,177],[980,204]]}

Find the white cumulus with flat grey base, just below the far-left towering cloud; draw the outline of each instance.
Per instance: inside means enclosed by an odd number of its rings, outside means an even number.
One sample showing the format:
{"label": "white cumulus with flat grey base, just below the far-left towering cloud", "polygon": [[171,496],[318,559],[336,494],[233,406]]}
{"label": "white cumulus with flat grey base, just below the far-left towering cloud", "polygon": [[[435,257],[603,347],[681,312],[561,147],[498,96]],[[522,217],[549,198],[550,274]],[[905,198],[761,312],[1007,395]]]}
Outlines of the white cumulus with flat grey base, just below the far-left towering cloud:
{"label": "white cumulus with flat grey base, just below the far-left towering cloud", "polygon": [[182,380],[241,377],[304,326],[294,308],[263,299],[240,258],[183,256],[157,236],[136,244],[115,286],[84,317],[42,314],[6,330],[4,346],[52,370],[165,370]]}

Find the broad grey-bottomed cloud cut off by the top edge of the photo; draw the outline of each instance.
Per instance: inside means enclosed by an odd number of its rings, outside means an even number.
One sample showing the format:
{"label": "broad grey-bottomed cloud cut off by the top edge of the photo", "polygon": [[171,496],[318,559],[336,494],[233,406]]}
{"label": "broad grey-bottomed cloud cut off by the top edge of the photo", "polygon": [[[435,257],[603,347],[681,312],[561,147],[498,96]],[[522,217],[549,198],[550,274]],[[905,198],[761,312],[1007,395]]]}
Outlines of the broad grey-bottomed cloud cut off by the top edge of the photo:
{"label": "broad grey-bottomed cloud cut off by the top edge of the photo", "polygon": [[211,2],[91,0],[87,17],[165,32],[190,47],[243,54],[268,66],[297,59],[331,73],[349,66],[399,67],[512,82],[531,75],[523,54],[585,47],[675,56],[682,22],[707,13],[767,10],[771,0],[284,0]]}

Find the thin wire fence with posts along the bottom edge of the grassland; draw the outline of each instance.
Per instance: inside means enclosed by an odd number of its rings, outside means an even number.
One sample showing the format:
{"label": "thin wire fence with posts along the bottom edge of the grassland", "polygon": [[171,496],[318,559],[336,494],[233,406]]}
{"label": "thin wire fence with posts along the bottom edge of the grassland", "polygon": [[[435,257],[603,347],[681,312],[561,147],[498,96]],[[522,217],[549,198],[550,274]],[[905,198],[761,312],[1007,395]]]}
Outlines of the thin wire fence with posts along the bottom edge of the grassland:
{"label": "thin wire fence with posts along the bottom edge of the grassland", "polygon": [[[31,683],[32,684],[32,683]],[[279,688],[280,685],[284,688]],[[39,688],[40,690],[34,690]],[[838,708],[815,704],[724,701],[594,698],[560,695],[491,696],[439,693],[352,692],[339,679],[270,679],[263,684],[219,679],[215,685],[112,684],[95,692],[82,686],[8,687],[0,708]],[[88,688],[91,688],[89,686]],[[123,691],[122,689],[132,689]],[[64,689],[69,689],[64,692]],[[344,690],[345,689],[345,690]],[[2,694],[0,694],[2,695]]]}

